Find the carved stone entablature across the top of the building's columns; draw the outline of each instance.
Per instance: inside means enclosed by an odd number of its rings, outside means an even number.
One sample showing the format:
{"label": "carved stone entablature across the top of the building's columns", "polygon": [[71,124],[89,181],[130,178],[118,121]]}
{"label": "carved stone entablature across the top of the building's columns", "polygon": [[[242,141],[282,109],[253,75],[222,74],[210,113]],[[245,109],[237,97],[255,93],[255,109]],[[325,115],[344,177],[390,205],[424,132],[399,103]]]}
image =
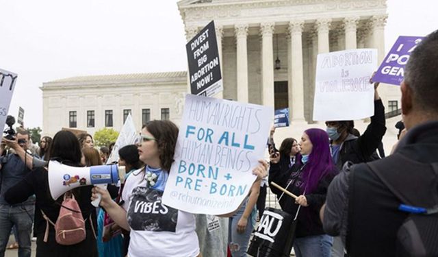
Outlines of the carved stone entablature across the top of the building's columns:
{"label": "carved stone entablature across the top of the building's columns", "polygon": [[179,1],[186,27],[204,27],[214,20],[216,25],[232,28],[235,24],[259,25],[260,21],[288,23],[293,19],[314,20],[344,16],[370,17],[386,13],[386,0],[211,0]]}

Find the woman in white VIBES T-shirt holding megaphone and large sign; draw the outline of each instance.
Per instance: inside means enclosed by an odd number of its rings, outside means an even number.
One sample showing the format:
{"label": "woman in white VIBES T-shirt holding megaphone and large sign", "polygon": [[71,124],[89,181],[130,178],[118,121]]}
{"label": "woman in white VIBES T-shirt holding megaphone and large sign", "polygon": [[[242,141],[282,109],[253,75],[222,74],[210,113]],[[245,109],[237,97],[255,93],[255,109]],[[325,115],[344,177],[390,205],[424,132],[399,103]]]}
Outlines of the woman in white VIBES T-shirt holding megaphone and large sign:
{"label": "woman in white VIBES T-shirt holding megaphone and large sign", "polygon": [[[107,191],[93,188],[92,199],[101,193],[102,208],[118,225],[130,230],[130,257],[146,253],[147,256],[201,256],[194,215],[162,204],[177,137],[178,127],[171,121],[149,121],[144,125],[138,153],[146,167],[133,171],[127,178],[122,206]],[[265,165],[260,164],[253,173],[265,176]]]}

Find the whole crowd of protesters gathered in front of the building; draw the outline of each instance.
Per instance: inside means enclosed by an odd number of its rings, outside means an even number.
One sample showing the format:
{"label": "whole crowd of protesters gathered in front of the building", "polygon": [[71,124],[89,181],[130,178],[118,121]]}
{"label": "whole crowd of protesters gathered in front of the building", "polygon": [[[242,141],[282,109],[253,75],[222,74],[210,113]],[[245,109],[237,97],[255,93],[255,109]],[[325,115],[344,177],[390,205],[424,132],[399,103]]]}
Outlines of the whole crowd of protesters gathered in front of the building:
{"label": "whole crowd of protesters gathered in front of the building", "polygon": [[[307,129],[299,140],[283,138],[277,149],[272,128],[269,164],[259,161],[253,169],[257,180],[250,193],[237,210],[220,217],[194,215],[161,203],[179,129],[171,121],[149,121],[143,125],[137,145],[118,149],[118,164],[127,171],[123,183],[81,186],[67,192],[77,199],[87,221],[86,238],[75,245],[60,245],[50,223],[57,220],[65,195],[52,199],[48,161],[72,167],[102,165],[114,143],[98,149],[92,135],[75,136],[62,130],[53,138],[43,136],[39,148],[31,152],[35,147],[31,147],[29,133],[18,130],[15,138],[3,138],[0,147],[0,256],[14,247],[18,247],[18,256],[31,256],[32,234],[37,257],[247,256],[257,219],[263,216],[268,187],[281,210],[296,219],[296,256],[396,256],[400,249],[406,250],[398,245],[396,234],[409,214],[394,206],[404,199],[404,204],[413,206],[422,201],[430,211],[437,205],[433,201],[438,197],[437,188],[417,188],[418,195],[430,195],[428,201],[400,196],[397,191],[409,189],[407,184],[415,176],[419,182],[426,171],[434,174],[435,168],[430,167],[438,161],[436,49],[438,32],[433,32],[417,46],[407,64],[401,85],[403,121],[396,125],[400,143],[389,157],[384,158],[381,151],[377,154],[386,125],[375,83],[374,115],[362,133],[353,121],[326,121],[325,130]],[[425,171],[415,175],[415,167]],[[100,207],[95,208],[90,201],[99,195]],[[158,206],[159,211],[138,212],[142,202]],[[207,230],[207,223],[215,220],[220,224],[218,230]],[[8,246],[12,231],[17,245]]]}

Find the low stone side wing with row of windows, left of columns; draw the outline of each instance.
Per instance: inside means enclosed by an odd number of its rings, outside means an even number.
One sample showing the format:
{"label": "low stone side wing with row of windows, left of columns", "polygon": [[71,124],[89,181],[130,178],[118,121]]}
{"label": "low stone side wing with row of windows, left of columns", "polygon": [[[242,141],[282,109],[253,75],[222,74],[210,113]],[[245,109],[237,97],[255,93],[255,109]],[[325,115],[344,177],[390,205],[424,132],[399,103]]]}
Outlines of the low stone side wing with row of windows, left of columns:
{"label": "low stone side wing with row of windows, left of columns", "polygon": [[42,131],[53,136],[62,127],[94,134],[103,127],[120,131],[128,113],[140,130],[153,119],[179,123],[187,73],[141,73],[70,77],[44,83]]}

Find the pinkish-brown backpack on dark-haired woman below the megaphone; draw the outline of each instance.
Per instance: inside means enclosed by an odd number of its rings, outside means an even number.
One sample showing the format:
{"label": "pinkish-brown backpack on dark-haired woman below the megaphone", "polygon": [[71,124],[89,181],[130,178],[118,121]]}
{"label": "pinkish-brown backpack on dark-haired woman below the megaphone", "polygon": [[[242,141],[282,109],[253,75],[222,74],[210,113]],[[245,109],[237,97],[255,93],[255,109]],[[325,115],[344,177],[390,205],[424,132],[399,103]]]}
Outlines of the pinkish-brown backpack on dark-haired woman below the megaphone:
{"label": "pinkish-brown backpack on dark-haired woman below the megaphone", "polygon": [[[55,228],[55,240],[56,243],[60,245],[75,245],[85,240],[85,221],[83,220],[81,209],[79,208],[79,204],[77,204],[73,194],[64,194],[64,201],[62,201],[60,214],[57,217],[56,223],[53,223],[53,221],[51,221],[49,217],[42,212],[42,210],[41,213],[42,217],[47,222],[46,232],[44,234],[44,242],[47,243],[47,239],[49,237],[49,223],[51,223],[51,225],[53,225]],[[96,237],[96,232],[94,232],[91,219],[90,223],[94,237]]]}

